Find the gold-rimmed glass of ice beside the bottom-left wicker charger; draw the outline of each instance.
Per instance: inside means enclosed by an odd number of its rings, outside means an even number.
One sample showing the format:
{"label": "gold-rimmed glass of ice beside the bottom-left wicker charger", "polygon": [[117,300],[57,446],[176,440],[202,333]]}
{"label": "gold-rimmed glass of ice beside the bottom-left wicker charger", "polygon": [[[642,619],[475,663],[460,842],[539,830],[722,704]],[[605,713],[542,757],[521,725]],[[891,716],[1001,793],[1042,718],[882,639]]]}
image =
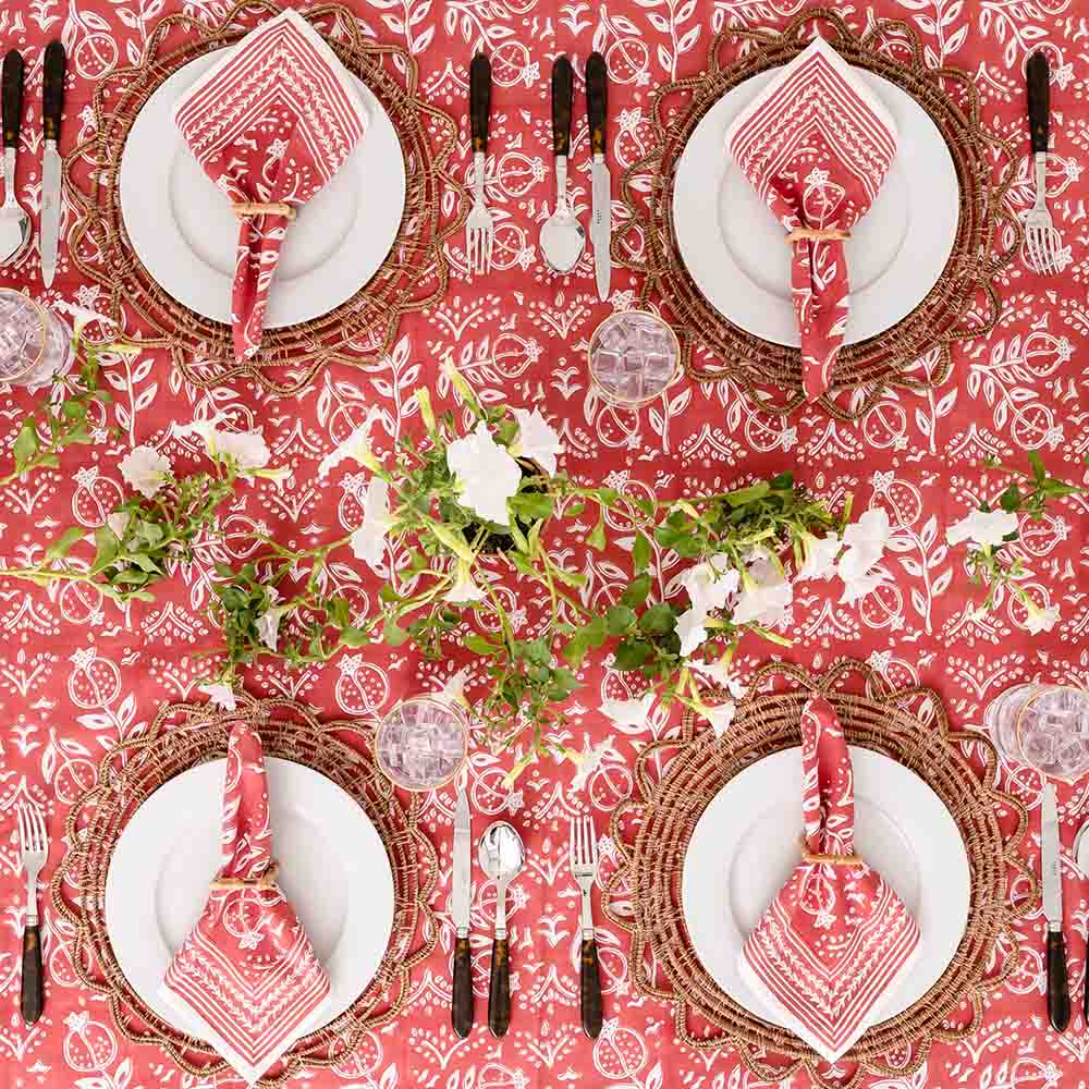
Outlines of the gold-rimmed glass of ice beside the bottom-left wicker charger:
{"label": "gold-rimmed glass of ice beside the bottom-left wicker charger", "polygon": [[406,791],[433,791],[451,782],[465,763],[468,746],[465,713],[433,696],[397,703],[375,735],[379,769]]}

